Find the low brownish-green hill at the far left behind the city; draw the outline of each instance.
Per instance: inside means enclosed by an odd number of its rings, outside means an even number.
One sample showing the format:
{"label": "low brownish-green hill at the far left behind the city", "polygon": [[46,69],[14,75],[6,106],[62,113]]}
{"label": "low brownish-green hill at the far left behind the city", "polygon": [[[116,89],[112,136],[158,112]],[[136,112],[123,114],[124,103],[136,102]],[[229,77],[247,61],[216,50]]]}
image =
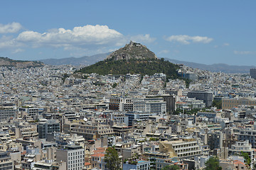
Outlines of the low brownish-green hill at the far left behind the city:
{"label": "low brownish-green hill at the far left behind the city", "polygon": [[0,57],[0,66],[2,67],[17,67],[18,69],[29,67],[43,67],[43,62],[31,62],[22,60],[11,60],[8,57]]}

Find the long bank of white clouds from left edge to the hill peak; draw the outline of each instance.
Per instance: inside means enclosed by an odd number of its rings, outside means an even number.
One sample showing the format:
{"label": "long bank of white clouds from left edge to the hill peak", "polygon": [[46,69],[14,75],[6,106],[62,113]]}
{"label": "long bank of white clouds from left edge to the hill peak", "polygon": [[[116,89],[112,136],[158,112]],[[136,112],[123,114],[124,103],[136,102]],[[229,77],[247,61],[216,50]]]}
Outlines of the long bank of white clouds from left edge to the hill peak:
{"label": "long bank of white clouds from left edge to the hill peak", "polygon": [[100,52],[110,52],[123,46],[130,40],[137,42],[154,42],[156,38],[145,35],[122,35],[108,26],[80,26],[73,29],[53,28],[45,33],[26,30],[16,38],[3,36],[0,38],[0,49],[10,50],[12,53],[21,52],[22,48],[54,47],[62,48],[71,55],[94,55]]}

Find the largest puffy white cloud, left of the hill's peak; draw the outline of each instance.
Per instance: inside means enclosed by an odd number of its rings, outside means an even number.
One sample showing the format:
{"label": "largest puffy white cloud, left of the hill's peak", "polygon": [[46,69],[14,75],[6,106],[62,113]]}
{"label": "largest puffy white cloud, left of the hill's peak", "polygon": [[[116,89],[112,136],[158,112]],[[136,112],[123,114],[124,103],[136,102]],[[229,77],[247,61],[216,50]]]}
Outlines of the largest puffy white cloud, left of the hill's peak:
{"label": "largest puffy white cloud, left of the hill's peak", "polygon": [[20,33],[16,40],[18,42],[31,42],[34,47],[53,46],[69,47],[84,45],[113,45],[123,39],[123,35],[117,30],[112,30],[107,26],[82,26],[73,30],[50,30],[48,33],[37,33],[32,30]]}

